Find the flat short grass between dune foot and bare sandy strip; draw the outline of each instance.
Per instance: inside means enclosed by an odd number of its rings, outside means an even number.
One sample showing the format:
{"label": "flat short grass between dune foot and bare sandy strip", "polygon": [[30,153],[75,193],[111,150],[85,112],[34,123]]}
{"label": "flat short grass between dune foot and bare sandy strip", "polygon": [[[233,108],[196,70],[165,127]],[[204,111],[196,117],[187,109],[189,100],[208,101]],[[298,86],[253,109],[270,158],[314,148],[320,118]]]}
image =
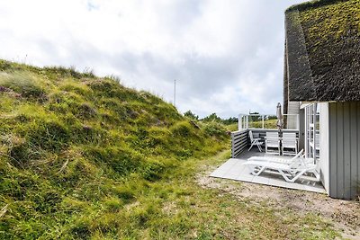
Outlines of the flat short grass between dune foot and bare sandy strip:
{"label": "flat short grass between dune foot and bare sandy strip", "polygon": [[[301,216],[293,209],[277,209],[237,200],[220,190],[206,190],[194,181],[201,164],[216,164],[224,152],[202,162],[192,159],[156,182],[126,183],[127,203],[112,197],[87,207],[72,222],[76,235],[92,239],[333,239],[329,222],[316,214]],[[76,208],[81,203],[73,203]],[[67,207],[68,208],[68,207]],[[80,207],[81,208],[81,207]],[[72,235],[74,232],[71,233]],[[56,235],[51,235],[51,237]],[[64,237],[67,236],[66,234]]]}

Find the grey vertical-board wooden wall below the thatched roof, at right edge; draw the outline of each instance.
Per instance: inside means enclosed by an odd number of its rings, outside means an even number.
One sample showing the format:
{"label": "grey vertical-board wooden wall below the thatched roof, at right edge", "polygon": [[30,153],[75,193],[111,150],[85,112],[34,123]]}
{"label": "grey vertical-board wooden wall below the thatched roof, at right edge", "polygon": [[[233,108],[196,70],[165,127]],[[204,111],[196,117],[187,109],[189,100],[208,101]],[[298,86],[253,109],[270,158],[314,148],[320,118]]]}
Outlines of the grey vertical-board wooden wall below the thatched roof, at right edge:
{"label": "grey vertical-board wooden wall below the thatched roof, at right edge", "polygon": [[360,186],[360,102],[329,103],[329,196],[353,199]]}

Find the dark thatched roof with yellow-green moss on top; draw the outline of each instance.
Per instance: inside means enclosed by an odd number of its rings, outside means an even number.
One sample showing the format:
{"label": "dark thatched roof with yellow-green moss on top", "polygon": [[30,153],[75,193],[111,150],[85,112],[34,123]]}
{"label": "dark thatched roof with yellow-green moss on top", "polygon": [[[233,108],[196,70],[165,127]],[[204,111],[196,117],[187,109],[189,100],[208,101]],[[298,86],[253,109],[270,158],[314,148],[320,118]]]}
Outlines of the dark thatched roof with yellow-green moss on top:
{"label": "dark thatched roof with yellow-green moss on top", "polygon": [[285,13],[285,101],[360,101],[360,0],[320,0]]}

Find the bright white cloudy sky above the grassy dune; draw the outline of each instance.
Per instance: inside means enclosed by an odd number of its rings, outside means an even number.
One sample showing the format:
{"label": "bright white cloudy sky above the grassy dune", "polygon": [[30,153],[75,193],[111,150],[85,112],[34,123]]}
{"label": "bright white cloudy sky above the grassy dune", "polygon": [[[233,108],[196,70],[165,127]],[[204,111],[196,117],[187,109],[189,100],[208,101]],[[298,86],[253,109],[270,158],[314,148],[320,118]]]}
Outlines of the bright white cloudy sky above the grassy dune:
{"label": "bright white cloudy sky above the grassy dune", "polygon": [[92,69],[222,118],[283,102],[284,10],[304,0],[0,1],[0,58]]}

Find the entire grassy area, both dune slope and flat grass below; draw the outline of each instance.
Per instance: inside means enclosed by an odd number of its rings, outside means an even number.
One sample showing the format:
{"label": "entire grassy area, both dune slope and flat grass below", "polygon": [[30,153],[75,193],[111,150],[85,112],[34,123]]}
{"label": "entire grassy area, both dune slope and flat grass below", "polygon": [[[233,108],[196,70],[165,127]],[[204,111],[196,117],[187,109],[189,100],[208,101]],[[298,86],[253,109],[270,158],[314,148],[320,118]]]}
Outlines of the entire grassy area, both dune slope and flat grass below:
{"label": "entire grassy area, both dune slope and flat grass below", "polygon": [[0,70],[0,239],[338,236],[316,215],[197,184],[204,165],[229,158],[219,123],[188,120],[113,77],[7,61]]}

